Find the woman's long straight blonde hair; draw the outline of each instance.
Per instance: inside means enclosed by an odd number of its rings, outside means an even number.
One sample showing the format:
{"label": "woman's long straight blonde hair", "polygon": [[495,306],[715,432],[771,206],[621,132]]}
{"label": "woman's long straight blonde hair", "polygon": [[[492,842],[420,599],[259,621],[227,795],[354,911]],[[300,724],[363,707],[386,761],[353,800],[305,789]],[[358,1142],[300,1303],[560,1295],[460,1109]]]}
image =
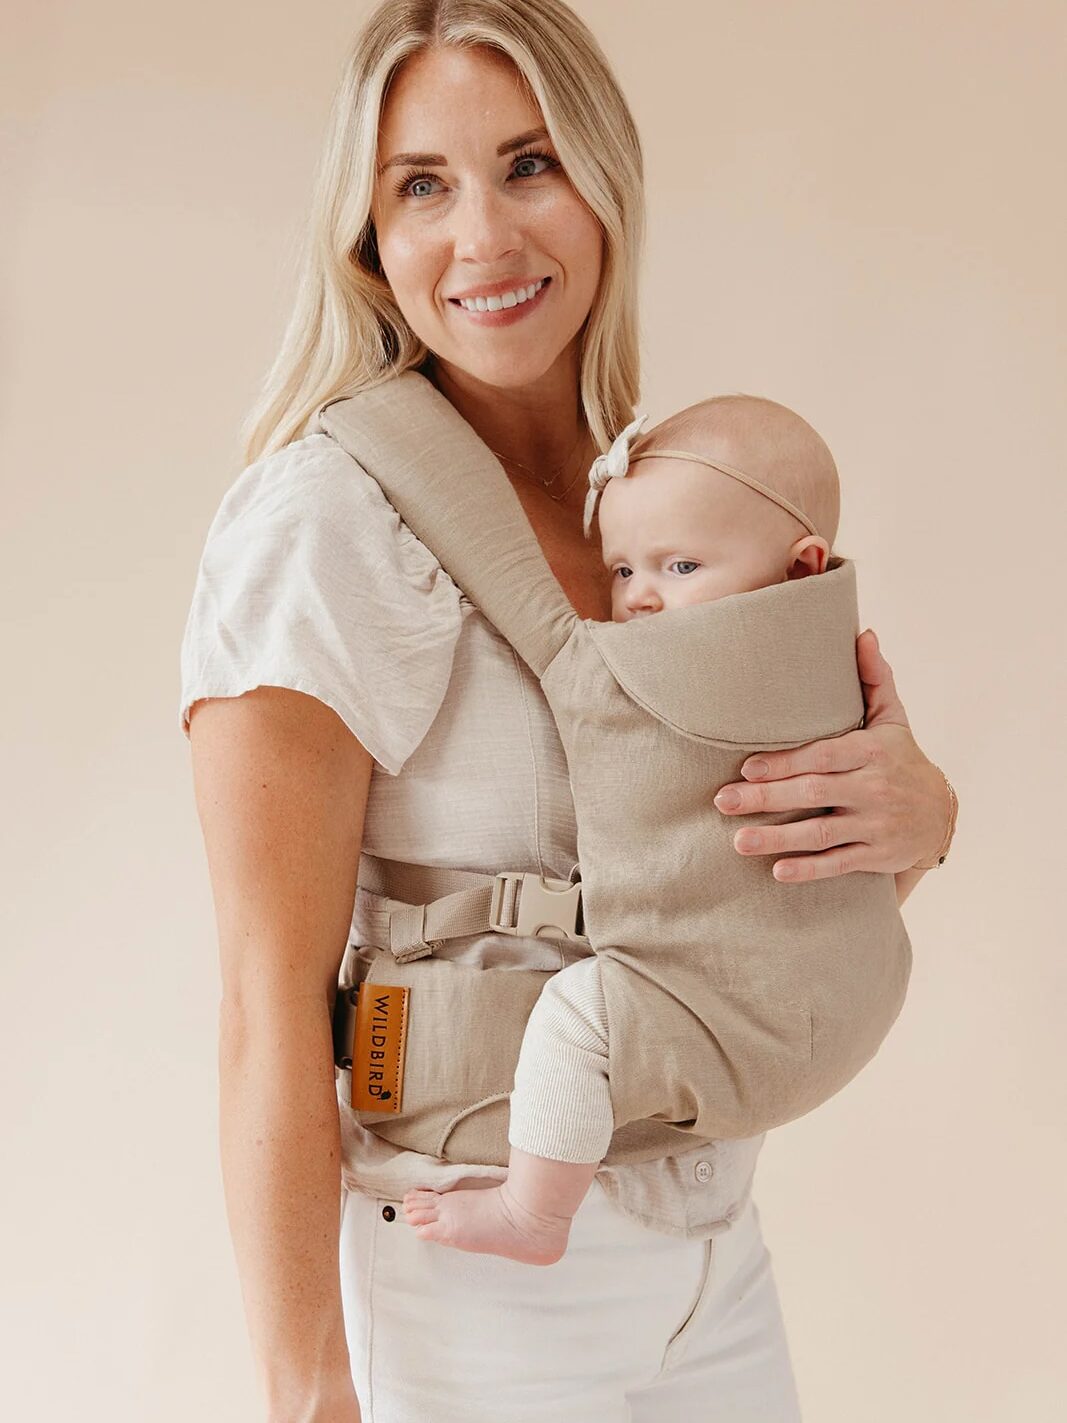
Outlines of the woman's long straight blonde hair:
{"label": "woman's long straight blonde hair", "polygon": [[561,0],[384,0],[334,94],[282,347],[245,421],[250,464],[300,438],[327,400],[421,366],[377,256],[371,199],[381,107],[420,50],[484,47],[512,61],[575,191],[603,229],[599,290],[580,334],[579,398],[606,448],[639,391],[637,266],[644,236],[642,151],[596,40]]}

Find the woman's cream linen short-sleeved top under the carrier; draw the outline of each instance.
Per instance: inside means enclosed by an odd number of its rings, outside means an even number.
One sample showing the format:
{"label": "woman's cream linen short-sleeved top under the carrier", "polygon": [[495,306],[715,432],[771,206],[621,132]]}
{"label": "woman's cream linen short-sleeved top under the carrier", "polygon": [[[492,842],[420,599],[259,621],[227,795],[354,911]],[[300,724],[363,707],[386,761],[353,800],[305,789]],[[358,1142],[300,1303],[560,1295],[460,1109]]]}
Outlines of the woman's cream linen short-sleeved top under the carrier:
{"label": "woman's cream linen short-sleeved top under the carrier", "polygon": [[[193,702],[256,686],[292,687],[330,706],[374,757],[368,854],[556,878],[578,859],[566,758],[536,677],[324,433],[249,465],[223,495],[198,569],[181,676],[186,736]],[[346,982],[359,978],[353,961],[367,942],[361,901],[357,891]],[[583,946],[487,933],[440,952],[504,970],[553,969]],[[400,1200],[413,1185],[504,1175],[383,1141],[343,1093],[339,1110],[349,1190]],[[707,1237],[747,1200],[761,1143],[602,1167],[598,1178],[652,1229]]]}

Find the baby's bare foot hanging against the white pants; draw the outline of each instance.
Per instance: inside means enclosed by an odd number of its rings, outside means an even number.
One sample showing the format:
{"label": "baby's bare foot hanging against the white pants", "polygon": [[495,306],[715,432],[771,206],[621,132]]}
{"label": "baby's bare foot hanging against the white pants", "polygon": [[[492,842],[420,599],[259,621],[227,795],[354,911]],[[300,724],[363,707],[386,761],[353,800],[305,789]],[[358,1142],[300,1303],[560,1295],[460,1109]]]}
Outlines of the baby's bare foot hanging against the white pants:
{"label": "baby's bare foot hanging against the white pants", "polygon": [[404,1215],[420,1239],[525,1265],[555,1265],[570,1234],[568,1217],[535,1215],[519,1205],[506,1181],[491,1190],[408,1191]]}

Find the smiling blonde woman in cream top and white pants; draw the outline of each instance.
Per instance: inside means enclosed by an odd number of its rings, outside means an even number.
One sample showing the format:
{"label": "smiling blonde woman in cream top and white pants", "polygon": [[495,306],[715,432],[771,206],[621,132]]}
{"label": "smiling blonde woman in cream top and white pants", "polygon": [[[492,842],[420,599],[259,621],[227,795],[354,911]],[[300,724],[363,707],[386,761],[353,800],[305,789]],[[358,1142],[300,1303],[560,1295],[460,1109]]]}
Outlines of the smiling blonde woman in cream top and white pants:
{"label": "smiling blonde woman in cream top and white pants", "polygon": [[[499,457],[579,613],[610,618],[582,475],[637,396],[640,198],[629,111],[558,0],[376,11],[337,94],[255,462],[209,532],[184,646],[222,959],[223,1177],[270,1419],[798,1416],[748,1192],[758,1141],[603,1171],[565,1259],[536,1271],[420,1242],[408,1187],[499,1173],[403,1153],[344,1103],[339,1126],[334,1099],[330,1000],[346,943],[359,976],[368,942],[360,852],[565,877],[576,847],[538,683],[316,411],[421,367]],[[835,807],[741,831],[737,850],[792,852],[781,879],[895,874],[903,898],[943,851],[949,794],[872,635],[858,657],[866,730],[708,795],[724,814]],[[561,963],[548,941],[450,952]]]}

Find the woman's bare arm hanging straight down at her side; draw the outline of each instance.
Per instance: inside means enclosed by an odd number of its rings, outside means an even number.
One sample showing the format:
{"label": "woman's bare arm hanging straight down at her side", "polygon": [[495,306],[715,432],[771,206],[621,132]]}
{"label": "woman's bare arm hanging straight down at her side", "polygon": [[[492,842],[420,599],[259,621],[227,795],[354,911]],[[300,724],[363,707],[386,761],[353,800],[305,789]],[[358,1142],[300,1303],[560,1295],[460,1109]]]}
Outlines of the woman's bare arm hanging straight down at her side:
{"label": "woman's bare arm hanging straight down at her side", "polygon": [[357,1423],[339,1279],[330,1000],[371,757],[282,687],[199,702],[196,807],[219,932],[219,1137],[270,1423]]}

